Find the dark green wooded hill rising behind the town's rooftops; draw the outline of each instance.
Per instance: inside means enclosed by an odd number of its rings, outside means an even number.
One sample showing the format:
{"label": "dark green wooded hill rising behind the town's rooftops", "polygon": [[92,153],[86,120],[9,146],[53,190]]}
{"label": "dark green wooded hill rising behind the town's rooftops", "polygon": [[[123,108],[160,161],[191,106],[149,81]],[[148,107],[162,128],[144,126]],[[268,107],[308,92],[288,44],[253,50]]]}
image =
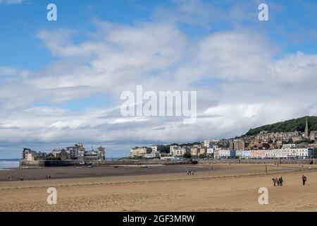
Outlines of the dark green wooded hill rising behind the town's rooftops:
{"label": "dark green wooded hill rising behind the town's rooftops", "polygon": [[278,122],[271,125],[260,126],[255,129],[250,129],[245,135],[256,135],[260,131],[267,130],[271,132],[292,132],[305,131],[306,119],[308,119],[309,131],[317,131],[317,117],[302,117],[298,119],[290,119],[287,121]]}

